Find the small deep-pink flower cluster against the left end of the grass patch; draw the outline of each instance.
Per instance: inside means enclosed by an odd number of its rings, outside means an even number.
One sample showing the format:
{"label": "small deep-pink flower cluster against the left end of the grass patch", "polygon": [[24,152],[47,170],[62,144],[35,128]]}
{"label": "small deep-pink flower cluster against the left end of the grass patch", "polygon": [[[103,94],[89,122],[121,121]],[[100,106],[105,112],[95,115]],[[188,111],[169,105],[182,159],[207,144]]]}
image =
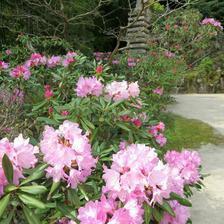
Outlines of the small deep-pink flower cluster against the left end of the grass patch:
{"label": "small deep-pink flower cluster against the left end of the grass patch", "polygon": [[162,132],[165,130],[165,124],[159,122],[159,124],[150,127],[149,133],[155,138],[156,142],[162,147],[166,144],[167,139]]}

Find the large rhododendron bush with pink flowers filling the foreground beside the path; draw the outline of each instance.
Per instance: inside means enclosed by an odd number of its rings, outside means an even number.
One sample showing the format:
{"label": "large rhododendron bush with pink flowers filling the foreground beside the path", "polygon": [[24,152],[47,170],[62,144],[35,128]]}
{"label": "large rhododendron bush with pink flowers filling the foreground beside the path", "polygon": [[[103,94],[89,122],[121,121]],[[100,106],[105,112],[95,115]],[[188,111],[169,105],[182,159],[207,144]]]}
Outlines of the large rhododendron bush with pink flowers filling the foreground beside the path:
{"label": "large rhododendron bush with pink flowers filling the foreground beside the path", "polygon": [[[200,158],[187,150],[163,151],[160,111],[175,79],[166,77],[173,55],[159,55],[162,65],[153,57],[123,57],[119,76],[117,63],[92,62],[73,51],[62,56],[32,53],[19,65],[9,57],[13,51],[4,54],[8,66],[0,72],[7,88],[0,92],[0,103],[10,108],[15,102],[23,113],[10,126],[1,126],[7,131],[0,141],[0,220],[190,221],[188,197],[202,185]],[[152,76],[147,74],[149,62]],[[23,126],[17,130],[19,123]],[[16,137],[14,129],[26,129],[23,134],[30,140]]]}

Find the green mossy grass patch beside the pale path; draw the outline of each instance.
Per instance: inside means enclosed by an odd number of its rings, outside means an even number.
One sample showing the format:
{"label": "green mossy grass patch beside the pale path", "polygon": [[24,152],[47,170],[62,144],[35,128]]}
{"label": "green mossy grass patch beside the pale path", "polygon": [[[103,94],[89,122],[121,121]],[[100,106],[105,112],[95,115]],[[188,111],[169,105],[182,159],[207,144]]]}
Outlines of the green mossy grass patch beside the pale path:
{"label": "green mossy grass patch beside the pale path", "polygon": [[198,149],[204,144],[223,144],[224,136],[210,125],[172,113],[165,114],[167,145],[165,150]]}

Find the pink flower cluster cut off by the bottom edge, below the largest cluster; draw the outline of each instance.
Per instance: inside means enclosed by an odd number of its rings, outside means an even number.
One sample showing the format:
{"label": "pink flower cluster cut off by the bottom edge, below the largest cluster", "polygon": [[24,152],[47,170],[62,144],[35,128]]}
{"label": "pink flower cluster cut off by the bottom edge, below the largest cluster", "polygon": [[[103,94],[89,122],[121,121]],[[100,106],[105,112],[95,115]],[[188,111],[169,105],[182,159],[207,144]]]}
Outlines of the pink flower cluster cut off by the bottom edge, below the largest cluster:
{"label": "pink flower cluster cut off by the bottom edge, below the largest cluster", "polygon": [[135,199],[122,207],[113,199],[103,195],[100,201],[90,201],[79,209],[80,224],[141,224],[143,209]]}

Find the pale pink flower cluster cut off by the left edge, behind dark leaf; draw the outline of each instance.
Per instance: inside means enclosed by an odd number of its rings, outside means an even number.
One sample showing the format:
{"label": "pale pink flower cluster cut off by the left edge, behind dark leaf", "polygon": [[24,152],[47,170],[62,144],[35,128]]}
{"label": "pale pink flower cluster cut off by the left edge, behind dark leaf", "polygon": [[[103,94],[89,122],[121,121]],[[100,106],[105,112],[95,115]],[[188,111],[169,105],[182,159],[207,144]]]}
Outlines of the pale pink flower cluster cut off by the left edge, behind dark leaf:
{"label": "pale pink flower cluster cut off by the left edge, behind dark leaf", "polygon": [[14,170],[13,183],[18,185],[19,179],[23,178],[23,169],[33,168],[37,162],[35,156],[38,147],[29,144],[29,139],[24,139],[20,134],[13,142],[7,138],[0,140],[0,195],[3,194],[4,186],[8,184],[2,168],[2,158],[6,154]]}

